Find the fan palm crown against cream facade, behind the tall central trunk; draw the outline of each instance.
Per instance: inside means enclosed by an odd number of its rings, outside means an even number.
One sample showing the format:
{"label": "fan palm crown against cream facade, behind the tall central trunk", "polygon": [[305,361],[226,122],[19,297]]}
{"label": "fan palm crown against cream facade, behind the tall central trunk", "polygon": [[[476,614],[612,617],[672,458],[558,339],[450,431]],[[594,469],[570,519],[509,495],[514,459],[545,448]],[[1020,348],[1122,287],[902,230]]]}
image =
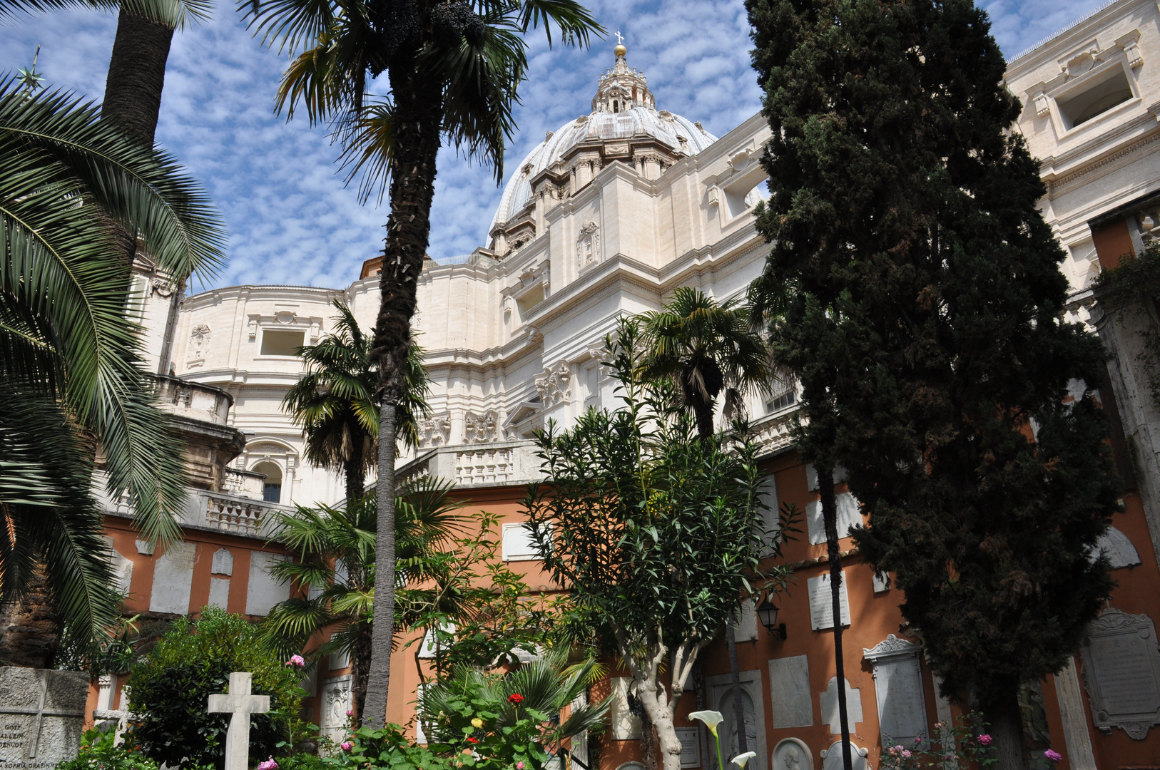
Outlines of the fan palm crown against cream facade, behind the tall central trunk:
{"label": "fan palm crown against cream facade, behind the tall central trunk", "polygon": [[[350,506],[363,496],[367,473],[378,460],[378,362],[350,307],[338,299],[334,307],[339,311],[334,332],[316,346],[298,348],[306,376],[290,388],[282,408],[303,427],[306,459],[343,473]],[[419,446],[418,420],[430,412],[429,393],[422,349],[412,343],[396,407],[398,441],[404,446]]]}

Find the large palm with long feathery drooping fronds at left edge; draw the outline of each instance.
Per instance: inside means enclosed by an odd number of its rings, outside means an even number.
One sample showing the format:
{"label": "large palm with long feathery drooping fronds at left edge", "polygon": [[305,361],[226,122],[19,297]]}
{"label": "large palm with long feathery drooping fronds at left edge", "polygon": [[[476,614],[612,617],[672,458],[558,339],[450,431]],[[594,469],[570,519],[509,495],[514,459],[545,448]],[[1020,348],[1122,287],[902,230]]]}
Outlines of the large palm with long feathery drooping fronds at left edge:
{"label": "large palm with long feathery drooping fronds at left edge", "polygon": [[88,635],[115,617],[93,484],[128,493],[137,529],[159,543],[181,536],[187,502],[111,225],[187,275],[220,264],[225,244],[172,158],[97,117],[92,103],[0,81],[0,602],[42,574],[57,619]]}

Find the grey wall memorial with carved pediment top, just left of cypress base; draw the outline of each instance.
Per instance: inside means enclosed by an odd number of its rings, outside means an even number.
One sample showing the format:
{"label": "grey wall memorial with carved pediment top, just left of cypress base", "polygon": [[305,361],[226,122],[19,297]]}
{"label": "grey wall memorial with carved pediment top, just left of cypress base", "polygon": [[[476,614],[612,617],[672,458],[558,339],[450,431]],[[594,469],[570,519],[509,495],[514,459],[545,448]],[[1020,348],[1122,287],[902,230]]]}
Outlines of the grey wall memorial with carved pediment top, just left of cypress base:
{"label": "grey wall memorial with carved pediment top, just left of cypress base", "polygon": [[878,729],[883,746],[909,746],[928,738],[927,704],[922,692],[922,645],[889,634],[862,656],[873,671]]}

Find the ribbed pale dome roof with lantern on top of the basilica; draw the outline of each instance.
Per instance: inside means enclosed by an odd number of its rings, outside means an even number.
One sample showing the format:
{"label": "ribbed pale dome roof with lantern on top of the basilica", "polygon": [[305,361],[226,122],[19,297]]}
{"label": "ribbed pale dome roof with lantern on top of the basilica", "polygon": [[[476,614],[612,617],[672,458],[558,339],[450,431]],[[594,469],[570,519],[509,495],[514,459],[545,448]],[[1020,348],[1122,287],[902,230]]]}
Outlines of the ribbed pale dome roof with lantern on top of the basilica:
{"label": "ribbed pale dome roof with lantern on top of the basilica", "polygon": [[[637,87],[632,88],[633,85]],[[609,109],[610,100],[618,102],[614,108],[618,111]],[[621,109],[622,104],[626,109]],[[530,180],[559,164],[581,141],[652,137],[675,153],[686,155],[695,155],[717,141],[717,137],[688,118],[667,110],[658,112],[651,104],[652,94],[647,92],[644,75],[636,70],[629,71],[624,56],[617,56],[616,66],[601,78],[600,90],[593,100],[593,112],[561,125],[516,167],[515,175],[503,188],[503,197],[488,232],[522,211],[531,202]]]}

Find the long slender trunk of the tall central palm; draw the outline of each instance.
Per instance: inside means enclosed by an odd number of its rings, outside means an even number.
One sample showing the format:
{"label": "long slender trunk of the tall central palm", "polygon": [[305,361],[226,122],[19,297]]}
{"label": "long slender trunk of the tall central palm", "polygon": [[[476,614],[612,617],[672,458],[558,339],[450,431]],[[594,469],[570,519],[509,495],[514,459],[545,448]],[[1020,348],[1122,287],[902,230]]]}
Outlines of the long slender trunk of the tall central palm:
{"label": "long slender trunk of the tall central palm", "polygon": [[390,68],[394,94],[396,144],[391,164],[391,216],[386,220],[382,292],[375,324],[372,356],[382,372],[382,407],[378,438],[378,543],[376,622],[372,631],[370,680],[363,724],[382,727],[391,673],[394,633],[394,441],[396,406],[411,341],[415,290],[430,237],[432,198],[435,196],[435,159],[440,146],[442,112],[438,89],[423,82],[416,65]]}

